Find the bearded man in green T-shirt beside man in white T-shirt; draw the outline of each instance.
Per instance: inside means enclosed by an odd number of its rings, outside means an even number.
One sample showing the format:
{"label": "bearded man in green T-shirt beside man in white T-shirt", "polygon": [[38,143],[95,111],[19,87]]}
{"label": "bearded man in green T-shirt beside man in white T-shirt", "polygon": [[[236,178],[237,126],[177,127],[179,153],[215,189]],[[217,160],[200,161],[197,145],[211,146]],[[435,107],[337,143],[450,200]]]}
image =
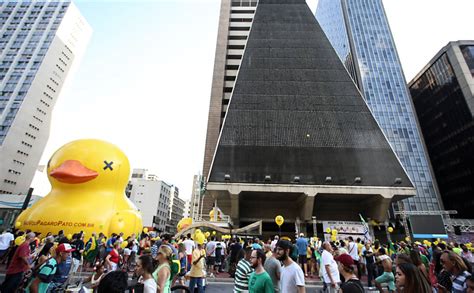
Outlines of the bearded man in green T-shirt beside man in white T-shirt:
{"label": "bearded man in green T-shirt beside man in white T-shirt", "polygon": [[249,278],[249,293],[273,293],[273,282],[265,271],[263,264],[265,263],[265,253],[261,249],[255,249],[250,255],[250,263],[254,272]]}

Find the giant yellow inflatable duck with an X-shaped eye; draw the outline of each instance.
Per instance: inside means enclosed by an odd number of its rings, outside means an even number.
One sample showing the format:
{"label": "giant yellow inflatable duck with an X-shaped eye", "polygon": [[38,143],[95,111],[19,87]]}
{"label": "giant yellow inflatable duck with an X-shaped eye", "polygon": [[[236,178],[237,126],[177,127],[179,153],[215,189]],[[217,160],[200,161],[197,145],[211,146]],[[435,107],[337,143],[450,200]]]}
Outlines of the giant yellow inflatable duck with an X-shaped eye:
{"label": "giant yellow inflatable duck with an X-shaped eye", "polygon": [[20,214],[18,228],[43,235],[141,231],[141,215],[124,194],[130,164],[115,145],[96,139],[70,142],[53,154],[47,172],[50,193]]}

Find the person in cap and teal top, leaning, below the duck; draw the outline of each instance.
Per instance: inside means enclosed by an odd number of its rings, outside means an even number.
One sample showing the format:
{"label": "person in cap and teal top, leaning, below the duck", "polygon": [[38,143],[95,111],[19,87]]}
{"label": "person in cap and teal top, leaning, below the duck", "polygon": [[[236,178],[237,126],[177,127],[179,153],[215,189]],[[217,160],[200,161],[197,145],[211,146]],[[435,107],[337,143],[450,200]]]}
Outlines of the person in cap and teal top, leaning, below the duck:
{"label": "person in cap and teal top, leaning, below the duck", "polygon": [[69,243],[59,244],[56,248],[56,256],[50,258],[40,267],[36,278],[30,285],[30,292],[48,292],[48,289],[51,289],[50,287],[53,285],[58,264],[66,261],[74,250]]}

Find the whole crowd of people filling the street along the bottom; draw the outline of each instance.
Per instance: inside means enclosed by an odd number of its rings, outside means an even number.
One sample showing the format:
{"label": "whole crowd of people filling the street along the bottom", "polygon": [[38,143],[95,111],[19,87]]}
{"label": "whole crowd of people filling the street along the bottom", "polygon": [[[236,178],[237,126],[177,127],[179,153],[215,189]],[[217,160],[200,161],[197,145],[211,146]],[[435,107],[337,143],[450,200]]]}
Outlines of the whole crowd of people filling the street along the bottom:
{"label": "whole crowd of people filling the street along the bottom", "polygon": [[[93,292],[171,292],[173,285],[205,292],[206,280],[225,273],[233,292],[301,293],[307,280],[321,280],[323,292],[474,293],[471,244],[403,241],[321,241],[300,234],[293,242],[191,234],[175,238],[153,232],[48,234],[5,231],[0,263],[6,265],[0,292],[51,292],[67,284]],[[73,280],[73,281],[71,281]],[[138,287],[137,287],[138,286]]]}

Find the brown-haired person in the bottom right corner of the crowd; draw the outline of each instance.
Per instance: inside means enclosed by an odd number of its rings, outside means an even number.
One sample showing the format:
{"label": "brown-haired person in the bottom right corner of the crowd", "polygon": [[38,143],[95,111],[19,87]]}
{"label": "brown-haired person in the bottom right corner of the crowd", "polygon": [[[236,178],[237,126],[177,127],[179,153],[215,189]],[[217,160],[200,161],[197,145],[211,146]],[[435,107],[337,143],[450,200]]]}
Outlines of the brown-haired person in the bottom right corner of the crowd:
{"label": "brown-haired person in the bottom right corner of the crowd", "polygon": [[[467,290],[467,279],[471,276],[471,273],[467,271],[467,266],[462,258],[453,251],[444,251],[441,255],[441,263],[443,269],[451,274],[452,280],[452,293],[466,292]],[[447,291],[441,285],[438,289],[443,292]]]}

